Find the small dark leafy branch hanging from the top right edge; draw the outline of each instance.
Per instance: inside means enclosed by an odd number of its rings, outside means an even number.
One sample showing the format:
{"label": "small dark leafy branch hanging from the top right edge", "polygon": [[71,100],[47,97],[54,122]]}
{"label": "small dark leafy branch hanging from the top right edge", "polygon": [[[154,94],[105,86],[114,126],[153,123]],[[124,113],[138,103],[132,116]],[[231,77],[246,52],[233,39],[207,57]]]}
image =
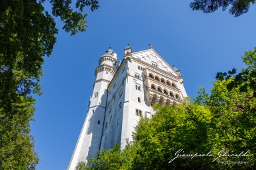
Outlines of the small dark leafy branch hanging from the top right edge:
{"label": "small dark leafy branch hanging from the top right edge", "polygon": [[190,3],[193,10],[200,10],[203,13],[213,13],[217,9],[222,8],[223,11],[231,5],[229,13],[235,17],[247,13],[251,5],[255,4],[255,0],[194,0]]}

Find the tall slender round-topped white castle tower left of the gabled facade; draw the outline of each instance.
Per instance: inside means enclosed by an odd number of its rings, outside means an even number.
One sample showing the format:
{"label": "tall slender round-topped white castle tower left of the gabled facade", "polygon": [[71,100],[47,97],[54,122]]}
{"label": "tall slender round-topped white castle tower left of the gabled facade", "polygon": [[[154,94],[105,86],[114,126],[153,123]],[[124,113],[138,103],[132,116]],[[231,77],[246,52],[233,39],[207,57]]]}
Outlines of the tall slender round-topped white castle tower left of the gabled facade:
{"label": "tall slender round-topped white castle tower left of the gabled facade", "polygon": [[100,149],[108,96],[107,86],[115,75],[116,62],[117,53],[111,48],[99,59],[99,66],[95,69],[96,80],[93,84],[93,94],[89,100],[87,116],[67,169],[73,170],[80,161],[95,157]]}

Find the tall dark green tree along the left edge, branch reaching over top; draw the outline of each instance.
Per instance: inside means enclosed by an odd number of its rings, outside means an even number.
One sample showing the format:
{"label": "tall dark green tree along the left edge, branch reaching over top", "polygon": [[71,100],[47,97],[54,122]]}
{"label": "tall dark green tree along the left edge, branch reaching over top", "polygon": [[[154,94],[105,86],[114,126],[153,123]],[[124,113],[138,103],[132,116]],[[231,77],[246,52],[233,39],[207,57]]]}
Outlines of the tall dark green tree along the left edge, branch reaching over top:
{"label": "tall dark green tree along the left edge, branch reaching over top", "polygon": [[51,16],[44,1],[0,1],[0,169],[35,169],[38,163],[29,122],[35,112],[32,94],[41,94],[43,57],[56,42],[53,17],[61,17],[63,29],[75,35],[87,27],[83,9],[99,7],[96,0],[78,0],[74,11],[69,0],[51,0]]}

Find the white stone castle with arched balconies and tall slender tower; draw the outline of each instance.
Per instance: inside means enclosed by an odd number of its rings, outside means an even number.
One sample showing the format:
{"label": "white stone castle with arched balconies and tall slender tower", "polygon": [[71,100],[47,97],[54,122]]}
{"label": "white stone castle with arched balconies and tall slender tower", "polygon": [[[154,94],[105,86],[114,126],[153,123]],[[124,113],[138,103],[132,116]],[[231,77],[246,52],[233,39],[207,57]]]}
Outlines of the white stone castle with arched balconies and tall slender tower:
{"label": "white stone castle with arched balconies and tall slender tower", "polygon": [[122,62],[111,48],[99,59],[89,109],[67,169],[80,161],[111,149],[115,143],[124,148],[141,117],[151,117],[154,103],[175,105],[187,93],[181,73],[171,67],[154,48],[133,52],[129,44]]}

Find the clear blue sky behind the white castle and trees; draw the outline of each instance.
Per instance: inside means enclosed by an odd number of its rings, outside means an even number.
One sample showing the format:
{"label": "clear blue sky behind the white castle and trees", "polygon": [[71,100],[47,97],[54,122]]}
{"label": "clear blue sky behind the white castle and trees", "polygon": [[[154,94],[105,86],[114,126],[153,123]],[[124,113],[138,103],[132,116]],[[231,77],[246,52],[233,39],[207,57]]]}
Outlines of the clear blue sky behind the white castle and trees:
{"label": "clear blue sky behind the white castle and trees", "polygon": [[[192,1],[192,0],[191,0]],[[123,59],[129,43],[133,51],[155,50],[183,75],[187,94],[197,87],[211,89],[217,72],[244,66],[241,55],[256,40],[256,6],[241,17],[228,11],[203,14],[183,1],[100,1],[87,17],[89,28],[75,37],[61,30],[53,54],[45,57],[31,134],[39,153],[39,170],[66,169],[87,114],[94,71],[101,55],[111,46]],[[49,6],[46,5],[47,8]]]}

